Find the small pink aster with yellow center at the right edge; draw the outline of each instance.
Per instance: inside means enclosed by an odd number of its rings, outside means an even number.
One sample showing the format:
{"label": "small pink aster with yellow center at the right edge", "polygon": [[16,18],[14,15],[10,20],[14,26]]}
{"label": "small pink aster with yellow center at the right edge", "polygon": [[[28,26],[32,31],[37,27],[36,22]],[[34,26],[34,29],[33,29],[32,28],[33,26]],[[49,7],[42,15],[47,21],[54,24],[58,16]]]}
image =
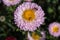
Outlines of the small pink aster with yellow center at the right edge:
{"label": "small pink aster with yellow center at the right edge", "polygon": [[60,23],[53,22],[49,25],[49,33],[54,37],[60,36]]}

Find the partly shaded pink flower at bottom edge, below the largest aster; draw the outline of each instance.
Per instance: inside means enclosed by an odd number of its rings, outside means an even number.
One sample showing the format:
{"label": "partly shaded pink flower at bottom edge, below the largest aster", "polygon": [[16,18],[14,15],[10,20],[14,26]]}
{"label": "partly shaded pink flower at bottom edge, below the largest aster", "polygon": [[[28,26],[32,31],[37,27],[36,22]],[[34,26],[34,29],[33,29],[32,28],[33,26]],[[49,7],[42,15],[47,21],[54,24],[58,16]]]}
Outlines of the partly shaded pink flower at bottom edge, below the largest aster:
{"label": "partly shaded pink flower at bottom edge, below the largest aster", "polygon": [[28,40],[45,40],[45,32],[41,32],[41,35],[36,34],[35,32],[32,35],[28,32]]}

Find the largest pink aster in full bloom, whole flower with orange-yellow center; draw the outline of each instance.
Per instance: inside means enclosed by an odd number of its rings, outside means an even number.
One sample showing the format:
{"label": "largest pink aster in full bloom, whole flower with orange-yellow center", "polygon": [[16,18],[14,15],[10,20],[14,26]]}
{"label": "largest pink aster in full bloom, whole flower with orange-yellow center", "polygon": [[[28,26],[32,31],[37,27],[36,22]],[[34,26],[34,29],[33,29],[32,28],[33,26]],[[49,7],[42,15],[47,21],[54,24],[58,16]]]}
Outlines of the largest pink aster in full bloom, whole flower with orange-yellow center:
{"label": "largest pink aster in full bloom, whole flower with orange-yellow center", "polygon": [[14,21],[24,31],[34,31],[44,23],[45,13],[40,6],[31,2],[24,2],[14,12]]}

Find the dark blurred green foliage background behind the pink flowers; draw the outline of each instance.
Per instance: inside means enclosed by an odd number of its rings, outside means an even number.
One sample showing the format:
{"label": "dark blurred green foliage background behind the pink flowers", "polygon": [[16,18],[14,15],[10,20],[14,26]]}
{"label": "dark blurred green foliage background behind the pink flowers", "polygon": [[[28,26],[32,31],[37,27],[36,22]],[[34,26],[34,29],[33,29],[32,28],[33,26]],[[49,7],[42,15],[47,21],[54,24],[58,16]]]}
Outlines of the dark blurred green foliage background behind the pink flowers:
{"label": "dark blurred green foliage background behind the pink flowers", "polygon": [[[46,31],[46,40],[60,40],[53,37],[48,32],[48,25],[51,22],[60,22],[60,0],[34,0],[45,12],[45,23],[41,30]],[[20,4],[22,4],[24,0]],[[18,4],[19,5],[19,4]],[[17,40],[25,40],[26,32],[21,31],[14,24],[14,11],[18,5],[7,7],[0,0],[0,40],[5,40],[7,36],[14,36]]]}

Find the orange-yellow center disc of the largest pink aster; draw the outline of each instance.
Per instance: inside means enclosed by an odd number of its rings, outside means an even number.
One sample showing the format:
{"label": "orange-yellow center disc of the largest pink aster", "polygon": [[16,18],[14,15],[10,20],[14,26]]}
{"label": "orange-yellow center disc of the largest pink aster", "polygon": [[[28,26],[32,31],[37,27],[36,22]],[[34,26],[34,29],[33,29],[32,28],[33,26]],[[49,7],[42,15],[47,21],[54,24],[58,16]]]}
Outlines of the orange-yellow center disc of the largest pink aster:
{"label": "orange-yellow center disc of the largest pink aster", "polygon": [[35,19],[35,11],[32,9],[25,10],[22,17],[27,21],[32,21],[33,19]]}

